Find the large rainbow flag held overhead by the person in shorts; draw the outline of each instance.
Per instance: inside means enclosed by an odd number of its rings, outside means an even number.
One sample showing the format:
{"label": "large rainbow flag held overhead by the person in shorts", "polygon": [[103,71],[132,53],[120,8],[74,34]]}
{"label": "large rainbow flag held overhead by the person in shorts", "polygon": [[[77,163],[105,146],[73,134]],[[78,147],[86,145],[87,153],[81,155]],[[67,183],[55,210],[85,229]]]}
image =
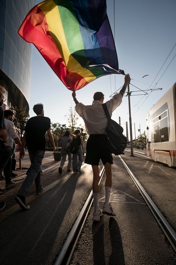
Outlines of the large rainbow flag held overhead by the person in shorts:
{"label": "large rainbow flag held overhead by the person in shorts", "polygon": [[35,45],[69,90],[107,74],[124,74],[106,0],[43,1],[27,14],[18,34]]}

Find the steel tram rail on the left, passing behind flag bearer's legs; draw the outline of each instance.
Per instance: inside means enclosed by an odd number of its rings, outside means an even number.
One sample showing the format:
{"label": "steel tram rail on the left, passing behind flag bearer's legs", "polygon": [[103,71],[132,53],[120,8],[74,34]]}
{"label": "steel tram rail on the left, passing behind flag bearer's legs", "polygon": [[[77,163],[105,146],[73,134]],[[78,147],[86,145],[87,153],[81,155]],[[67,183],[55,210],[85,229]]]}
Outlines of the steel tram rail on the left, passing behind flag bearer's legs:
{"label": "steel tram rail on the left, passing behind flag bearer's legs", "polygon": [[[100,184],[100,182],[102,180],[102,177],[103,177],[103,174],[104,174],[104,166],[103,166],[103,168],[102,168],[102,170],[100,172],[100,181],[99,181],[98,184]],[[73,227],[72,227],[72,229],[71,229],[71,231],[70,231],[70,233],[69,233],[69,235],[68,235],[68,237],[67,237],[67,239],[66,239],[66,241],[65,241],[65,243],[64,243],[64,245],[62,247],[62,249],[60,250],[60,253],[59,253],[59,255],[58,255],[58,257],[57,257],[54,265],[60,265],[60,264],[62,264],[62,262],[63,262],[63,260],[64,260],[64,258],[66,256],[66,254],[68,252],[68,249],[69,249],[69,247],[70,247],[70,245],[71,245],[71,243],[72,243],[72,241],[73,241],[76,233],[79,230],[80,224],[82,222],[83,216],[85,215],[85,212],[87,210],[87,207],[88,207],[88,205],[89,205],[89,203],[91,201],[92,195],[93,195],[93,192],[91,191],[90,194],[89,194],[89,196],[88,196],[88,198],[87,198],[87,200],[86,200],[86,202],[85,202],[85,204],[84,204],[84,206],[83,206],[83,208],[82,208],[82,210],[80,211],[80,214],[78,215],[78,217],[77,217],[77,219],[76,219],[76,221],[75,221],[75,223],[74,223],[74,225],[73,225]],[[92,200],[92,202],[93,202],[93,200]],[[91,205],[92,205],[92,202],[91,202]],[[71,251],[71,254],[69,256],[69,260],[71,259],[72,255],[73,255],[74,248],[76,246],[76,243],[78,241],[79,235],[80,235],[80,233],[82,231],[82,228],[84,226],[84,223],[85,223],[85,220],[87,218],[88,212],[91,209],[91,205],[89,206],[89,209],[87,211],[87,214],[86,214],[86,216],[85,216],[85,218],[83,220],[82,226],[81,226],[81,228],[79,230],[78,236],[77,236],[77,238],[75,240],[74,246],[73,246],[72,251]]]}

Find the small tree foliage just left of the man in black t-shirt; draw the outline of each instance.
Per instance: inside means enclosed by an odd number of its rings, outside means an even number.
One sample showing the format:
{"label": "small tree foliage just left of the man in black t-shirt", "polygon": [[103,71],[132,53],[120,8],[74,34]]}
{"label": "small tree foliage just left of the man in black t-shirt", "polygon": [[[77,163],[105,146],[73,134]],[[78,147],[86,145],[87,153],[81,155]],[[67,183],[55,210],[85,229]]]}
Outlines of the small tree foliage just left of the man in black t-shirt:
{"label": "small tree foliage just left of the man in black t-shirt", "polygon": [[29,118],[29,113],[26,112],[26,106],[21,109],[15,107],[14,110],[15,110],[15,117],[13,119],[13,123],[15,125],[17,134],[20,137],[20,140],[22,140],[22,135],[25,130],[26,122],[28,121]]}

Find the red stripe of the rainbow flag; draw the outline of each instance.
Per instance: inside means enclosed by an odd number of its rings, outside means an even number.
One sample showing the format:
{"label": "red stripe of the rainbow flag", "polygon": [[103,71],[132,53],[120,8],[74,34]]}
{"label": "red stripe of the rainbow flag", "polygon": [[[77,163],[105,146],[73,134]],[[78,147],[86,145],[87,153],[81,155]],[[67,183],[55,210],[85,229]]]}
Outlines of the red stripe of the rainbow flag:
{"label": "red stripe of the rainbow flag", "polygon": [[[34,13],[40,13],[40,16],[37,16],[37,19],[35,18],[33,11]],[[55,74],[69,90],[78,90],[87,85],[88,82],[84,77],[68,71],[62,56],[49,33],[46,16],[38,6],[35,6],[28,13],[18,30],[18,34],[25,41],[31,42],[35,45],[46,62],[50,65],[51,69],[53,69]]]}

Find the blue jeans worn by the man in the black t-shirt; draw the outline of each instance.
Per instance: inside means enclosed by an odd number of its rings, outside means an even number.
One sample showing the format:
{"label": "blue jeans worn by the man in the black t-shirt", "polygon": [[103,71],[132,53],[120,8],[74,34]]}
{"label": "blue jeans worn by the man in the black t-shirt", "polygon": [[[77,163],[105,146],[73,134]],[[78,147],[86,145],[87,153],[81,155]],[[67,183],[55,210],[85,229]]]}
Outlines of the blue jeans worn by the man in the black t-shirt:
{"label": "blue jeans worn by the man in the black t-shirt", "polygon": [[18,194],[26,197],[28,191],[32,188],[35,181],[36,192],[42,190],[41,177],[40,177],[40,167],[45,154],[43,150],[29,150],[29,158],[31,161],[31,169],[27,174],[23,184],[21,185]]}

